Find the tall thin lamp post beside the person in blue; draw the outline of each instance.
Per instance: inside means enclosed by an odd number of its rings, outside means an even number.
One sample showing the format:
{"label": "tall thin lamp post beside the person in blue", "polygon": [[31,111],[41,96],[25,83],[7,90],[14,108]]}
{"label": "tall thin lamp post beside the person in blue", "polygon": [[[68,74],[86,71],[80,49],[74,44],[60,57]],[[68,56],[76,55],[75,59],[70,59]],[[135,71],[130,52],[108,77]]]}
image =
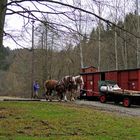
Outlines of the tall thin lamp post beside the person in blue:
{"label": "tall thin lamp post beside the person in blue", "polygon": [[33,90],[33,82],[34,82],[34,20],[32,22],[32,72],[31,72],[31,98],[33,98],[34,90]]}

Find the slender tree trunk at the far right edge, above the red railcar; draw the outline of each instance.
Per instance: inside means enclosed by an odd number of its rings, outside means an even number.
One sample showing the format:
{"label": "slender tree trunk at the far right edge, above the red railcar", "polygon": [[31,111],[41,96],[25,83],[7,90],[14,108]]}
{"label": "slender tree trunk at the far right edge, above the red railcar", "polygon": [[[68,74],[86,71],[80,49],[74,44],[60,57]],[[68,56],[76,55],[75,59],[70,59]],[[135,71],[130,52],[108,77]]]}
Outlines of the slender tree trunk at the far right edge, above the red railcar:
{"label": "slender tree trunk at the far right edge, above the red railcar", "polygon": [[[136,0],[136,15],[137,15],[137,36],[139,36],[139,32],[140,32],[139,0]],[[139,52],[140,52],[139,38],[137,37],[137,68],[140,67]]]}

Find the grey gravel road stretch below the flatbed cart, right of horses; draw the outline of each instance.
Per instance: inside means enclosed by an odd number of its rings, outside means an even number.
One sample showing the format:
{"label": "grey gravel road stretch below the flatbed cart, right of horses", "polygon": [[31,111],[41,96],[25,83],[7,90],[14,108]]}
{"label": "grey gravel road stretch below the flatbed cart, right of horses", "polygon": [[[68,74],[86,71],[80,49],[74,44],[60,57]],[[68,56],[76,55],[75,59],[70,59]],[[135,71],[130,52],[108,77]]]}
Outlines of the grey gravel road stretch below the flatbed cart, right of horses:
{"label": "grey gravel road stretch below the flatbed cart, right of horses", "polygon": [[99,101],[85,101],[85,100],[77,100],[75,103],[79,105],[93,106],[103,111],[115,112],[121,115],[140,117],[140,106],[131,106],[130,108],[126,108],[123,107],[121,104],[115,105],[114,103],[100,103]]}

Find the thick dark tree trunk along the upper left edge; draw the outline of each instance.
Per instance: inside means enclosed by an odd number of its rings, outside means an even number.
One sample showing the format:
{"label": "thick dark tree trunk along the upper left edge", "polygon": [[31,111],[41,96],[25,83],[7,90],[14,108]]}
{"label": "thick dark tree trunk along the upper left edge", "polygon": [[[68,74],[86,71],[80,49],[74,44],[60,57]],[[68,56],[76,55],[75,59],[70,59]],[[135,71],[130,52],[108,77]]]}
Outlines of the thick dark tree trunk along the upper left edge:
{"label": "thick dark tree trunk along the upper left edge", "polygon": [[7,0],[0,0],[0,47],[3,45],[3,30],[6,15]]}

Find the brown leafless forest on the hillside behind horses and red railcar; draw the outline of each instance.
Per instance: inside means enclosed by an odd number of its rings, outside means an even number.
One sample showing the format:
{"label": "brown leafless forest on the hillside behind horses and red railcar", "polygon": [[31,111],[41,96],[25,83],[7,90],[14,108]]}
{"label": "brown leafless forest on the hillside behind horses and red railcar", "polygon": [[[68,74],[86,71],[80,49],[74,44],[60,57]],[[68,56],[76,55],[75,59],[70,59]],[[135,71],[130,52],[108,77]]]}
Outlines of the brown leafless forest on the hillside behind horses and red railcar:
{"label": "brown leafless forest on the hillside behind horses and red railcar", "polygon": [[[137,32],[137,16],[135,13],[126,15],[125,20],[118,21],[117,25],[132,33]],[[33,78],[38,80],[43,91],[43,82],[47,79],[60,80],[65,75],[78,75],[80,73],[80,45],[83,52],[83,65],[98,68],[99,58],[99,25],[92,29],[90,36],[82,36],[79,44],[69,43],[63,49],[57,48],[58,34],[49,30],[42,36],[36,33],[35,49],[10,50],[1,47],[0,51],[0,94],[21,97],[31,97],[32,84],[32,53]],[[137,39],[131,34],[124,33],[115,26],[100,25],[101,29],[101,64],[100,70],[115,70],[117,43],[118,69],[137,68]],[[42,29],[41,29],[42,30]],[[117,38],[115,38],[117,33]],[[47,41],[46,41],[47,40]]]}

